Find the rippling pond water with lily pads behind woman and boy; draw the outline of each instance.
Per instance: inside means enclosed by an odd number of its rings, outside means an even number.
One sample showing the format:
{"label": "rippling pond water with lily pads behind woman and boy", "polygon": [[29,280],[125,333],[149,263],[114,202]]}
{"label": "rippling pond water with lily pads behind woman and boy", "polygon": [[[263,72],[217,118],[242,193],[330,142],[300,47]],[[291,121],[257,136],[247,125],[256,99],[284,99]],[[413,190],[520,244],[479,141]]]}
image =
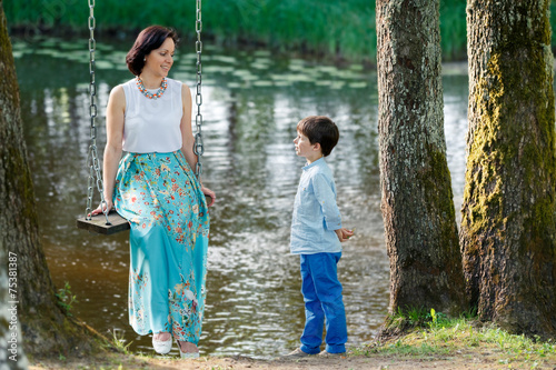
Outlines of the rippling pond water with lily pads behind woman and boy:
{"label": "rippling pond water with lily pads behind woman and boy", "polygon": [[[97,40],[98,146],[106,142],[108,93],[132,76],[125,64],[130,40]],[[85,212],[89,143],[87,40],[13,40],[21,113],[38,200],[42,243],[52,279],[77,296],[72,313],[99,332],[121,336],[130,349],[153,353],[149,337],[128,324],[128,233],[97,236],[76,228]],[[193,46],[181,44],[170,77],[195,84]],[[304,327],[299,259],[288,254],[294,197],[304,160],[294,151],[296,123],[331,117],[340,141],[327,160],[338,204],[356,236],[344,244],[349,341],[368,342],[388,308],[377,144],[376,73],[266,50],[205,44],[203,182],[217,192],[211,208],[205,354],[269,358],[298,346]],[[465,72],[465,71],[464,71]],[[445,130],[455,202],[460,204],[467,76],[444,77]],[[97,198],[98,199],[98,198]],[[98,201],[98,200],[97,200]],[[176,346],[172,354],[178,354]]]}

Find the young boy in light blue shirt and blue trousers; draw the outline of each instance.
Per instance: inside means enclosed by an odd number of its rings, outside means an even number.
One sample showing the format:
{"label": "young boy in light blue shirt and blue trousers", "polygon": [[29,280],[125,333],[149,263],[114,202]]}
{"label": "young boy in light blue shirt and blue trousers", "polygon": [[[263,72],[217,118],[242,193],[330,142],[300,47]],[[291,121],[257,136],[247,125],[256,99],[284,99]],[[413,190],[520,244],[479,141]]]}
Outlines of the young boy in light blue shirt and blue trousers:
{"label": "young boy in light blue shirt and blue trousers", "polygon": [[[346,352],[346,312],[336,266],[340,242],[354,233],[341,227],[336,184],[325,161],[338,138],[338,128],[327,117],[311,116],[297,123],[296,154],[305,157],[307,164],[294,203],[290,251],[301,260],[306,321],[301,347],[287,354],[289,358]],[[325,318],[326,349],[320,352]]]}

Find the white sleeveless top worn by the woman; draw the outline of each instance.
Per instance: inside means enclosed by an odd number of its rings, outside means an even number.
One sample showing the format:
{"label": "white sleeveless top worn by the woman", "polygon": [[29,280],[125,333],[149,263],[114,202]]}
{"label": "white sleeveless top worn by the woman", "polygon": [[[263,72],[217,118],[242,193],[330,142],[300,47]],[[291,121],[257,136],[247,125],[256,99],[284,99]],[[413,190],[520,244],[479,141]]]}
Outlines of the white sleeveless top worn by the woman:
{"label": "white sleeveless top worn by the woman", "polygon": [[[122,83],[126,94],[123,150],[132,153],[171,152],[181,149],[180,121],[183,116],[181,82],[167,78],[159,99],[148,99],[136,79]],[[155,93],[156,90],[148,90]]]}

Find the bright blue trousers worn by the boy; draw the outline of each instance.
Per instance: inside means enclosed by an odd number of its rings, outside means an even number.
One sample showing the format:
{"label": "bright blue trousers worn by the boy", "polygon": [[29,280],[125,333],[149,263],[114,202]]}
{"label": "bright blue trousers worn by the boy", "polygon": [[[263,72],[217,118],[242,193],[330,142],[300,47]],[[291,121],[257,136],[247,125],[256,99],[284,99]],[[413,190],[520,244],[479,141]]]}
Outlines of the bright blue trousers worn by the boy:
{"label": "bright blue trousers worn by the boy", "polygon": [[337,271],[341,252],[300,257],[306,320],[300,348],[309,354],[320,352],[326,318],[326,350],[330,353],[346,352],[346,310]]}

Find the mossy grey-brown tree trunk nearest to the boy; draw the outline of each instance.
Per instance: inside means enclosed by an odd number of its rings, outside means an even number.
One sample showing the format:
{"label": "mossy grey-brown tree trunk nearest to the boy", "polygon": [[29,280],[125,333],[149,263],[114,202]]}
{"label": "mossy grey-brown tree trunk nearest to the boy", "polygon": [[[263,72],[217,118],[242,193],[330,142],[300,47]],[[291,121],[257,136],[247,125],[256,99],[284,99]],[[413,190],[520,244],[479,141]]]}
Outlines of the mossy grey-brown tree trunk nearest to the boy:
{"label": "mossy grey-brown tree trunk nearest to the boy", "polygon": [[377,0],[381,209],[390,307],[467,309],[444,136],[439,2]]}

